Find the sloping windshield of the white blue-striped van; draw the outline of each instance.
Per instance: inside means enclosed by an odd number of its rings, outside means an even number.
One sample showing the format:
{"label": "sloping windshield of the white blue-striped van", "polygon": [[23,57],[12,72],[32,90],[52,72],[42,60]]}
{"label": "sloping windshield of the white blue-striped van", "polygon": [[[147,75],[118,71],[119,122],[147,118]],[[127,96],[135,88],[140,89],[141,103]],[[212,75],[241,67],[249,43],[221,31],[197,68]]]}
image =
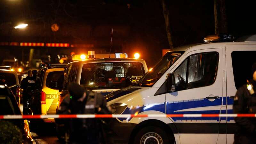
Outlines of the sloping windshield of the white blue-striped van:
{"label": "sloping windshield of the white blue-striped van", "polygon": [[138,85],[152,87],[183,53],[184,52],[167,52],[156,66],[149,69],[146,75],[141,78]]}

